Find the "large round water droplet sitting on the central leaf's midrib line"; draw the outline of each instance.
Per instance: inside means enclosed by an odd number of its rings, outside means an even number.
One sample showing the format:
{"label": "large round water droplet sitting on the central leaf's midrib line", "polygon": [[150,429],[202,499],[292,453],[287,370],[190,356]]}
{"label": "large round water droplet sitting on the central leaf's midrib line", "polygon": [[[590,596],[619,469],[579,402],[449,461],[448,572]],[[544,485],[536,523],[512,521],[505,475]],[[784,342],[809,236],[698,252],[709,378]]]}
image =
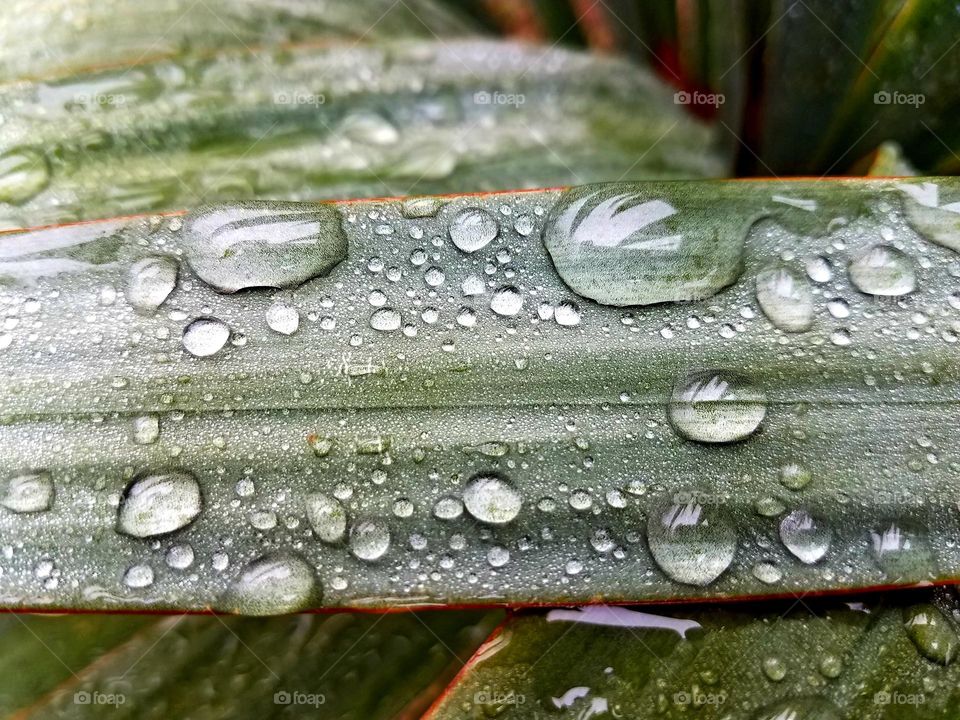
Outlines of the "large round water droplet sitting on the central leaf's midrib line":
{"label": "large round water droplet sitting on the central leaf's midrib line", "polygon": [[669,405],[677,432],[706,443],[742,440],[760,427],[766,412],[764,393],[724,370],[687,375],[674,387]]}

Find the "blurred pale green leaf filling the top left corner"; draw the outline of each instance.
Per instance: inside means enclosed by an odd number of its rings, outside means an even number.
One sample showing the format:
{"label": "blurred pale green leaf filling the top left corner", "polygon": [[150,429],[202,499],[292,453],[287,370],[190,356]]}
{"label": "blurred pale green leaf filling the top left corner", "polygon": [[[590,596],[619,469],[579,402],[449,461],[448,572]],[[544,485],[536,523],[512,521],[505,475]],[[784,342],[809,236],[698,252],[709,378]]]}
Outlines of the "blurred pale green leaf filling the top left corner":
{"label": "blurred pale green leaf filling the top left corner", "polygon": [[[460,12],[435,0],[11,0],[0,24],[2,80],[63,77],[90,67],[139,64],[227,48],[472,31]],[[91,94],[98,88],[89,86]],[[91,100],[90,102],[96,102]]]}

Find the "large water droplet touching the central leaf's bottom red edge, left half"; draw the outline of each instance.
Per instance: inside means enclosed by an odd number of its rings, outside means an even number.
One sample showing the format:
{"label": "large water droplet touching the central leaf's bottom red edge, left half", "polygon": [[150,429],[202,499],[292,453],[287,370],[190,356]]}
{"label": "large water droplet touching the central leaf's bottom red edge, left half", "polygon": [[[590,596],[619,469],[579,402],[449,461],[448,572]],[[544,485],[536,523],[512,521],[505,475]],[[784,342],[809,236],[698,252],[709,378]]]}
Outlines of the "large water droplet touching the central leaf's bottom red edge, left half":
{"label": "large water droplet touching the central leaf's bottom red edge, left half", "polygon": [[281,615],[319,601],[313,568],[293,554],[272,554],[247,565],[224,594],[221,608],[241,615]]}

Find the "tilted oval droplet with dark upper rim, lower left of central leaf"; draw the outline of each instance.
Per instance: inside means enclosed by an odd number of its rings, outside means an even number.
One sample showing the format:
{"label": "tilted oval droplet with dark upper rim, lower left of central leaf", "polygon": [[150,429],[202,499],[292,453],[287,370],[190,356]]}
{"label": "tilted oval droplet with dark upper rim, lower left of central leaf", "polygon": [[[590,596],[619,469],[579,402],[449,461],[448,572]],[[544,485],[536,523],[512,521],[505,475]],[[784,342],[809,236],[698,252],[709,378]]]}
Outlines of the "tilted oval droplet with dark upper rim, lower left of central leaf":
{"label": "tilted oval droplet with dark upper rim, lower left of central leaf", "polygon": [[148,472],[127,486],[120,501],[117,530],[152,537],[179,530],[200,514],[200,485],[182,470]]}

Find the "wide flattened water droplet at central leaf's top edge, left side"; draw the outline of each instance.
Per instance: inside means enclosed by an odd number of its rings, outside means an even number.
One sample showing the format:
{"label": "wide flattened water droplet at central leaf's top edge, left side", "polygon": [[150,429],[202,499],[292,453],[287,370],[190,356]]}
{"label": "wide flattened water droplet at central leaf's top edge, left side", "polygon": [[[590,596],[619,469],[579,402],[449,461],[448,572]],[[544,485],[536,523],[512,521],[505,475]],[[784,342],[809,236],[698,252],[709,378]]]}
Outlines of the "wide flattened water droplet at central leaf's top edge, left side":
{"label": "wide flattened water droplet at central leaf's top edge, left side", "polygon": [[220,292],[296,287],[347,256],[340,212],[332,205],[247,202],[216,205],[187,220],[187,262]]}

